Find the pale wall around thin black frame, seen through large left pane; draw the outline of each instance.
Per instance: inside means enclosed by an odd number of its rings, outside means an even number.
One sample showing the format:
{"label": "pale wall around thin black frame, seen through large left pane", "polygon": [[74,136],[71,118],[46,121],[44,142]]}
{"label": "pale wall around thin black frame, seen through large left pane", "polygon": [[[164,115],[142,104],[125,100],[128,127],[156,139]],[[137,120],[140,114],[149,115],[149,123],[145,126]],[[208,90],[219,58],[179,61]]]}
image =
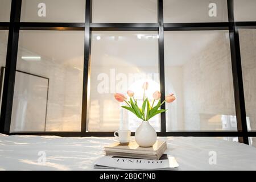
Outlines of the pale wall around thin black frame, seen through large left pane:
{"label": "pale wall around thin black frame, seen through large left pane", "polygon": [[46,131],[80,131],[82,71],[45,59],[30,62],[20,57],[18,70],[49,78]]}

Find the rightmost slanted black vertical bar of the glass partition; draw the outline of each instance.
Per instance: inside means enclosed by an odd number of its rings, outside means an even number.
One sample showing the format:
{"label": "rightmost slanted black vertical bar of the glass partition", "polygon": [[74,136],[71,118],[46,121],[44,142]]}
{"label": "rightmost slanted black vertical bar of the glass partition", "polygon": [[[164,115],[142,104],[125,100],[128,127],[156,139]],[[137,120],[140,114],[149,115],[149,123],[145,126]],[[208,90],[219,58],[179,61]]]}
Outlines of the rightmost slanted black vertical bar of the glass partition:
{"label": "rightmost slanted black vertical bar of the glass partition", "polygon": [[228,3],[228,18],[229,18],[229,40],[230,40],[230,53],[232,61],[232,74],[234,86],[234,100],[237,115],[237,130],[243,133],[239,138],[239,142],[249,144],[247,137],[247,124],[246,124],[246,110],[245,98],[243,93],[243,78],[242,78],[242,64],[240,53],[239,34],[234,22],[234,2],[227,0]]}

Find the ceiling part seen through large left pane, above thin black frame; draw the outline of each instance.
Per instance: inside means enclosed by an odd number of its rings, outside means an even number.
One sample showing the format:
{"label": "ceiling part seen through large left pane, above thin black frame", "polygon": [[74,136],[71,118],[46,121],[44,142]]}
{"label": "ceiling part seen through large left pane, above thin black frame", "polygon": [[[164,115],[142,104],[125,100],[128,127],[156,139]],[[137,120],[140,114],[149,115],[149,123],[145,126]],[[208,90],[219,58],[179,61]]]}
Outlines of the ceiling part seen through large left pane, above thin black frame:
{"label": "ceiling part seen through large left pane, above thin black frame", "polygon": [[20,31],[18,59],[21,56],[82,67],[84,31]]}

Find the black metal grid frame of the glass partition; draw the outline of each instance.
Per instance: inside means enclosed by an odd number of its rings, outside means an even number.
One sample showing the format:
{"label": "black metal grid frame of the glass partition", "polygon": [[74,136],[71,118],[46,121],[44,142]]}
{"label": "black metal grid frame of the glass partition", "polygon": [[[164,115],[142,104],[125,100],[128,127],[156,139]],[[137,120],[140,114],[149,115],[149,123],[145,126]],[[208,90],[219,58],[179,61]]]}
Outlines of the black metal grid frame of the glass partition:
{"label": "black metal grid frame of the glass partition", "polygon": [[[85,0],[85,23],[28,23],[20,22],[20,9],[22,0],[12,1],[10,23],[0,23],[0,30],[9,29],[9,39],[6,58],[6,75],[3,88],[3,101],[1,109],[0,131],[10,133],[11,109],[15,82],[16,55],[18,51],[19,30],[84,30],[84,77],[82,90],[82,122],[79,132],[46,132],[22,134],[31,135],[59,135],[63,137],[110,137],[112,132],[89,132],[88,126],[88,79],[90,74],[90,46],[92,31],[158,31],[159,41],[159,78],[162,100],[164,100],[164,31],[191,31],[191,30],[229,30],[230,51],[232,55],[232,73],[234,84],[234,100],[236,104],[238,131],[166,131],[166,115],[161,114],[161,131],[158,136],[183,136],[183,137],[239,137],[239,142],[248,144],[248,137],[256,137],[255,131],[247,131],[245,100],[243,94],[242,66],[239,44],[239,28],[256,28],[256,22],[234,22],[233,0],[227,0],[229,22],[214,23],[164,23],[163,0],[158,0],[158,23],[92,23],[92,1]],[[162,105],[162,109],[164,109]],[[20,134],[20,133],[18,133]],[[134,133],[132,133],[134,135]]]}

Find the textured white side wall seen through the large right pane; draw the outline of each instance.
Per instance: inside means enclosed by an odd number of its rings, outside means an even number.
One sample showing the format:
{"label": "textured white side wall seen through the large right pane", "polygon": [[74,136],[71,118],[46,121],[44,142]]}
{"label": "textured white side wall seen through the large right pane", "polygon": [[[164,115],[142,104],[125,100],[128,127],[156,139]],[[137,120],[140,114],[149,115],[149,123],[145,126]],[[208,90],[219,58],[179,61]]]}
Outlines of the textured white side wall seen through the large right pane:
{"label": "textured white side wall seen through the large right pane", "polygon": [[222,130],[217,115],[236,115],[229,42],[222,34],[183,67],[186,130]]}

